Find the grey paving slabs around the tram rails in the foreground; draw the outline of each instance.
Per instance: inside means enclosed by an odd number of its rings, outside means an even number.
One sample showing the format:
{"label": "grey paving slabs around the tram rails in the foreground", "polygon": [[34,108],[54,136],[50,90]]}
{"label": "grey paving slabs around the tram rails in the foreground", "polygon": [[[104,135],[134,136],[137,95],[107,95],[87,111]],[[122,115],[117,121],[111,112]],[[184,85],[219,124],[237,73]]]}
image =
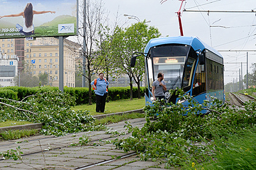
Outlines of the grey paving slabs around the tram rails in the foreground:
{"label": "grey paving slabs around the tram rails in the foreground", "polygon": [[[142,127],[145,119],[129,120],[133,126]],[[125,122],[108,125],[110,131],[126,132]],[[125,138],[130,134],[113,136],[105,131],[80,132],[61,137],[34,136],[26,139],[0,142],[0,152],[20,146],[21,160],[3,160],[0,157],[0,170],[160,170],[159,162],[139,161],[136,153],[124,153],[113,144],[98,146],[70,146],[78,143],[79,137],[90,136],[92,141]],[[42,152],[44,151],[44,152]],[[114,159],[121,156],[120,159]]]}

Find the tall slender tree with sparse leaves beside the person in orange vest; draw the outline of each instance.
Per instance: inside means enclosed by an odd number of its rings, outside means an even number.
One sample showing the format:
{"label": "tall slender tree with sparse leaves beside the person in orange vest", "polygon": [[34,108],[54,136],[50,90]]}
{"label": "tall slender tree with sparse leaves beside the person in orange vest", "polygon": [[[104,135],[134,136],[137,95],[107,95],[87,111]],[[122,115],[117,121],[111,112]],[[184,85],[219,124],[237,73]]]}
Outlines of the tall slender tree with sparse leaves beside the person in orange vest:
{"label": "tall slender tree with sparse leaves beside the person in orange vest", "polygon": [[[86,3],[87,2],[87,3]],[[104,11],[103,1],[102,0],[87,0],[84,1],[83,8],[85,11],[82,11],[81,16],[83,16],[83,31],[80,31],[80,36],[83,39],[83,43],[80,43],[82,54],[85,57],[85,62],[83,63],[83,68],[86,69],[83,76],[88,80],[89,84],[89,104],[92,104],[92,76],[101,64],[101,61],[97,60],[98,58],[98,49],[97,49],[97,39],[98,32],[101,25],[104,25]]]}

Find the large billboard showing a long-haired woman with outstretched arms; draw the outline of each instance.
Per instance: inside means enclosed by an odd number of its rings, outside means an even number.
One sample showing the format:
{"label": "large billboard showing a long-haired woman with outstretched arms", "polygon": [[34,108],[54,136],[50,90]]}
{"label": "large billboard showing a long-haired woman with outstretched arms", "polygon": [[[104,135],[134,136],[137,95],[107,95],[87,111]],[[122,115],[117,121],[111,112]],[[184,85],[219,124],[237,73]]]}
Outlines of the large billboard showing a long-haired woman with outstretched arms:
{"label": "large billboard showing a long-haired woman with outstretched arms", "polygon": [[77,35],[78,0],[0,0],[0,38]]}

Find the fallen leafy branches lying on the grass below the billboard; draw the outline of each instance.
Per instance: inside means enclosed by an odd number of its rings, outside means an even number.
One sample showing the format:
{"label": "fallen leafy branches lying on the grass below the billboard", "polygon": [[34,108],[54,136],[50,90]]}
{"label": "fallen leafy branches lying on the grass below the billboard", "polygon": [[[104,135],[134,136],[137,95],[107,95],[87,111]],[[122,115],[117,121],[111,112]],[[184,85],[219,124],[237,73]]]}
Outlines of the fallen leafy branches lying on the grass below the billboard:
{"label": "fallen leafy branches lying on the grass below the billboard", "polygon": [[41,89],[35,95],[22,101],[1,99],[0,121],[30,121],[42,123],[41,133],[62,136],[66,133],[97,130],[101,126],[93,126],[94,118],[87,111],[74,111],[75,97],[60,90]]}

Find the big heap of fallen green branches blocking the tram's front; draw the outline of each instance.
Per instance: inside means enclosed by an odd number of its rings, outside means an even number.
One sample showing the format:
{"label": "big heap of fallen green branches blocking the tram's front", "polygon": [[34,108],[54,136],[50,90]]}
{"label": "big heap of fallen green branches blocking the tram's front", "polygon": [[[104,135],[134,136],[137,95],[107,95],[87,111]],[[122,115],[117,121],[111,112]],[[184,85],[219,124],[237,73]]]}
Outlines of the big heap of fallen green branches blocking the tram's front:
{"label": "big heap of fallen green branches blocking the tram's front", "polygon": [[[184,97],[189,105],[154,102],[154,106],[146,106],[145,125],[139,129],[127,124],[132,137],[116,139],[116,147],[137,151],[141,160],[160,159],[167,168],[194,162],[192,170],[201,162],[212,161],[220,152],[214,141],[221,143],[239,130],[255,128],[256,102],[248,102],[244,109],[236,110],[218,100],[212,101],[213,105],[207,101],[197,104],[192,97]],[[203,108],[211,112],[201,115]],[[152,117],[156,119],[152,121]]]}

